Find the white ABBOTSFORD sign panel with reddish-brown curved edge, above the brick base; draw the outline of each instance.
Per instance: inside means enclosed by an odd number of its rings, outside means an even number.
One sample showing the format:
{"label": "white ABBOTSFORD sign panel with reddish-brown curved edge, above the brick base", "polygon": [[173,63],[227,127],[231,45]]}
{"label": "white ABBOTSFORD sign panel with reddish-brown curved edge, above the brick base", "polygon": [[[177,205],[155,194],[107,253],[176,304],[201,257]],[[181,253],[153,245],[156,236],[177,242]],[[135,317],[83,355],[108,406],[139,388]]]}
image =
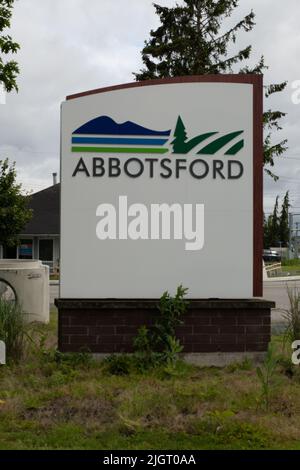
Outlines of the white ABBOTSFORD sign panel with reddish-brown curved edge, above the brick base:
{"label": "white ABBOTSFORD sign panel with reddish-brown curved edge, above the brick base", "polygon": [[62,298],[262,294],[262,78],[132,83],[62,104]]}

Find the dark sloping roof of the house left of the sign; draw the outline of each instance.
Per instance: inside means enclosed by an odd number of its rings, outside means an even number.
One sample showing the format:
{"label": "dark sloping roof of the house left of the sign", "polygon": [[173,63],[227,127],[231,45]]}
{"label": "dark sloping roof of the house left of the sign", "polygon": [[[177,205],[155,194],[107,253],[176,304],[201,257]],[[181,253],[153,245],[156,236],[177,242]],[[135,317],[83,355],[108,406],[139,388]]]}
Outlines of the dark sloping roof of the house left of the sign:
{"label": "dark sloping roof of the house left of the sign", "polygon": [[58,235],[60,233],[60,183],[30,197],[32,219],[22,235]]}

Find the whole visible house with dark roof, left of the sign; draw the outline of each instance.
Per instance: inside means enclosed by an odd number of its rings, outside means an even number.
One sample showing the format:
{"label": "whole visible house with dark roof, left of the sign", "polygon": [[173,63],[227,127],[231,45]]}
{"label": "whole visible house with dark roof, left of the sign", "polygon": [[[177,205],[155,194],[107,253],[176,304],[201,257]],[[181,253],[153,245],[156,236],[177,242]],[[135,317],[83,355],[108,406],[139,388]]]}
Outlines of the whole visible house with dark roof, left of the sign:
{"label": "whole visible house with dark roof, left of the sign", "polygon": [[0,258],[39,259],[50,266],[59,267],[60,243],[60,183],[33,194],[29,203],[32,219],[19,235],[18,246],[0,246]]}

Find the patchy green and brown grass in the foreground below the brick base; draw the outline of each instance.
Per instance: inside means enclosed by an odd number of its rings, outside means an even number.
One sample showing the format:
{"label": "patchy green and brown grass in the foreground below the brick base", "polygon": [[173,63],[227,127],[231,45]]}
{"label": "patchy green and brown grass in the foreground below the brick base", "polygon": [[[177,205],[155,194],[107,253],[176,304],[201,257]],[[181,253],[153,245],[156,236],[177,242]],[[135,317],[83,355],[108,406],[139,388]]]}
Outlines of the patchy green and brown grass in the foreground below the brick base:
{"label": "patchy green and brown grass in the foreground below the brick base", "polygon": [[266,411],[249,360],[115,376],[87,355],[57,354],[56,328],[53,311],[23,362],[0,368],[1,450],[300,450],[300,369],[281,337]]}

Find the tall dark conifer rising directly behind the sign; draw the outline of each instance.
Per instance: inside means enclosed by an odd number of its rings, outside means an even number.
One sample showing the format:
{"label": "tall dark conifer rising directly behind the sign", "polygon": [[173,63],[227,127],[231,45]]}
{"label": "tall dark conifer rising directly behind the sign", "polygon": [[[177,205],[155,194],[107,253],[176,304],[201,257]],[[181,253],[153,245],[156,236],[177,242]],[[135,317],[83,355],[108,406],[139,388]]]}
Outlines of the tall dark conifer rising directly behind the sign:
{"label": "tall dark conifer rising directly behind the sign", "polygon": [[[255,15],[251,11],[225,32],[223,22],[238,7],[239,0],[184,0],[183,5],[172,8],[154,4],[160,19],[160,26],[150,32],[142,50],[143,69],[134,74],[136,80],[168,78],[184,75],[218,73],[261,74],[267,68],[263,56],[258,64],[250,67],[241,65],[250,59],[249,45],[236,53],[229,49],[236,43],[237,34],[249,32],[255,26]],[[240,67],[239,67],[240,65]],[[286,82],[265,87],[265,96],[282,91]],[[272,131],[280,130],[280,120],[285,116],[281,111],[266,110],[264,113],[264,164],[265,171],[277,179],[271,168],[274,158],[287,149],[287,140],[275,144]]]}

